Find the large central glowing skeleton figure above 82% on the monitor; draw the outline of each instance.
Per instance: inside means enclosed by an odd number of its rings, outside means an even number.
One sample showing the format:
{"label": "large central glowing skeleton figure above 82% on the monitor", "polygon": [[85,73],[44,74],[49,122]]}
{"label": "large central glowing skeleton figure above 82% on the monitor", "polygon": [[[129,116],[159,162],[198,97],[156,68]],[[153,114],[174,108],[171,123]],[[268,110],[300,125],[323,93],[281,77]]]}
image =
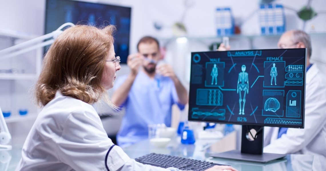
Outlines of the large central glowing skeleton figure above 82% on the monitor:
{"label": "large central glowing skeleton figure above 82% on the monitor", "polygon": [[[249,80],[248,80],[248,73],[245,72],[245,65],[242,65],[241,70],[242,72],[239,73],[238,78],[238,85],[237,85],[237,93],[239,94],[239,106],[240,112],[239,114],[244,115],[244,104],[245,104],[245,95],[249,93]],[[239,84],[240,83],[240,84]],[[242,99],[241,93],[244,92],[244,98]],[[242,109],[241,109],[241,102],[243,101]]]}

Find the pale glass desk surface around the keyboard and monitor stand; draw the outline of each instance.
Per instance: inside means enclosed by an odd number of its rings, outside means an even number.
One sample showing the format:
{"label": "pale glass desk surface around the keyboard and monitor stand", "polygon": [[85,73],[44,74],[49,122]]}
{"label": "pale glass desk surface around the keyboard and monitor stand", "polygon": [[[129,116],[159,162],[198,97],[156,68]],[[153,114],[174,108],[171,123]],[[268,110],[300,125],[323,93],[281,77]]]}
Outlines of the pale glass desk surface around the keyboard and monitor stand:
{"label": "pale glass desk surface around the keyboard and monitor stand", "polygon": [[[131,157],[137,158],[145,154],[152,152],[169,154],[179,157],[186,157],[198,160],[205,160],[219,164],[231,165],[239,171],[282,171],[282,170],[302,170],[311,171],[312,170],[312,155],[301,155],[301,154],[290,154],[283,159],[274,160],[268,163],[256,163],[256,162],[244,162],[237,160],[228,160],[221,158],[212,158],[209,155],[212,153],[210,151],[211,144],[217,142],[218,140],[197,140],[195,144],[181,144],[180,137],[172,140],[167,147],[156,148],[152,146],[149,140],[144,140],[129,147],[124,148],[124,151]],[[3,154],[9,153],[11,155],[11,160],[9,163],[0,162],[1,171],[13,171],[15,170],[19,160],[22,156],[22,146],[13,146],[10,151],[0,151],[2,157]]]}

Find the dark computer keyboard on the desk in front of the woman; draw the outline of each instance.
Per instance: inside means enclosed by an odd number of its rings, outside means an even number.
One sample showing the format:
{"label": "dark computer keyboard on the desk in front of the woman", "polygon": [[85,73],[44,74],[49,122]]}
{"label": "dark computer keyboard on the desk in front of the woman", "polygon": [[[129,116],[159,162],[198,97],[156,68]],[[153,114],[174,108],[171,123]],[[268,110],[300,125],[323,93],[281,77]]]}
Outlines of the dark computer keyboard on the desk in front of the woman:
{"label": "dark computer keyboard on the desk in front of the woman", "polygon": [[163,167],[163,168],[175,167],[180,170],[193,170],[193,171],[203,171],[213,167],[214,165],[224,165],[224,164],[206,162],[202,160],[188,159],[184,157],[177,157],[177,156],[156,154],[156,153],[150,153],[138,157],[135,160],[142,164],[149,164],[149,165]]}

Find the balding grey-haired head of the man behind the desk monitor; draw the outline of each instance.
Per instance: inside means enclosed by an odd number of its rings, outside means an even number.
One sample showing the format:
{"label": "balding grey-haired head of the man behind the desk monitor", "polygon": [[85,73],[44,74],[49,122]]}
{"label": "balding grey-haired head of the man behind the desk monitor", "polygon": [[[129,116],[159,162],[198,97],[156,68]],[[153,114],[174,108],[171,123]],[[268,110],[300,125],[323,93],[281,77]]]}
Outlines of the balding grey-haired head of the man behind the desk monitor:
{"label": "balding grey-haired head of the man behind the desk monitor", "polygon": [[278,48],[307,48],[307,56],[311,56],[310,36],[301,30],[290,30],[282,34],[278,43]]}

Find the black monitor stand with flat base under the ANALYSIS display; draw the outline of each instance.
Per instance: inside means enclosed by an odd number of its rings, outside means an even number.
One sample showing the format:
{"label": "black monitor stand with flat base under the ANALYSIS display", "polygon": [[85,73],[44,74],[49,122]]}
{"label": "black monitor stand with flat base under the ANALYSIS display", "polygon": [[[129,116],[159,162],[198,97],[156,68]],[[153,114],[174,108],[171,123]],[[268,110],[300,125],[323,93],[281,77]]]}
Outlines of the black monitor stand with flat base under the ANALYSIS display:
{"label": "black monitor stand with flat base under the ANALYSIS display", "polygon": [[[249,140],[249,129],[255,129],[257,137],[255,140]],[[275,159],[283,158],[286,154],[263,153],[264,144],[264,127],[242,125],[241,151],[232,150],[222,153],[212,154],[212,157],[220,157],[233,160],[244,160],[251,162],[266,163]],[[255,134],[253,134],[255,136]]]}

